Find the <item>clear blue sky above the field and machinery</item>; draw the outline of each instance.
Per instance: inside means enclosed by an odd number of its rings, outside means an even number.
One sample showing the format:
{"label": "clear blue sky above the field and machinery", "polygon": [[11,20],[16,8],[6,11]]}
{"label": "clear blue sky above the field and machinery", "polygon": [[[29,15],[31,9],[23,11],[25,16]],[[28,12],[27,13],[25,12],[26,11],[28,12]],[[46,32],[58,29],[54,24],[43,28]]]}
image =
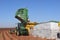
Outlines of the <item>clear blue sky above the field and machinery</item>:
{"label": "clear blue sky above the field and machinery", "polygon": [[0,27],[14,27],[19,8],[27,8],[32,22],[60,21],[60,0],[0,0]]}

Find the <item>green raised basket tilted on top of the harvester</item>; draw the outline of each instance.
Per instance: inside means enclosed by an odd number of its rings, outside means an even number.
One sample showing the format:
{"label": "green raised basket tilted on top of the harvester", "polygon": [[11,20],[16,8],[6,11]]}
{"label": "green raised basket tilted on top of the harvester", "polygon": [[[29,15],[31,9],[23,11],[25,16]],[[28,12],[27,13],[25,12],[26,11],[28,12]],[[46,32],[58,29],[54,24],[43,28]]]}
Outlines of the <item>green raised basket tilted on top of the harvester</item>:
{"label": "green raised basket tilted on top of the harvester", "polygon": [[28,10],[26,8],[18,9],[16,12],[15,18],[20,21],[27,22],[28,20]]}

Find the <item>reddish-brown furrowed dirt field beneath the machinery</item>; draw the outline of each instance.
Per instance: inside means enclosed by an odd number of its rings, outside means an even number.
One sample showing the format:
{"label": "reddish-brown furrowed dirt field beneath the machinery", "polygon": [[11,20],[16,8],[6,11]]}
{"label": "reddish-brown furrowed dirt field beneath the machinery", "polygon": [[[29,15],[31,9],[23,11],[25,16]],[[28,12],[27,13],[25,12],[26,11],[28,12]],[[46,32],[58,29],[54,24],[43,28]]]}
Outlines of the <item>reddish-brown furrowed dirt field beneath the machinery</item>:
{"label": "reddish-brown furrowed dirt field beneath the machinery", "polygon": [[[0,40],[52,40],[46,38],[39,38],[33,36],[16,36],[15,34],[10,34],[9,28],[0,29]],[[54,39],[55,40],[55,39]]]}

